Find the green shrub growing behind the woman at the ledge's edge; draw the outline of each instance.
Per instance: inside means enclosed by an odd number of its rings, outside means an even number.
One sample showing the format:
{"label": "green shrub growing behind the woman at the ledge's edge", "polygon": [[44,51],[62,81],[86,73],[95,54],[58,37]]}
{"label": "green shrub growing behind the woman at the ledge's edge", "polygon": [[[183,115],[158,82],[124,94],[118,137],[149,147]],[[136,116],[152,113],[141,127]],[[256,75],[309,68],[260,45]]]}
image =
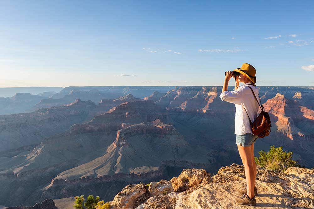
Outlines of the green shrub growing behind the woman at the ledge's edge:
{"label": "green shrub growing behind the woman at the ledge's edge", "polygon": [[271,146],[269,152],[259,151],[259,158],[254,157],[256,165],[262,168],[284,172],[288,167],[295,167],[296,161],[292,160],[292,152],[282,150],[282,147]]}

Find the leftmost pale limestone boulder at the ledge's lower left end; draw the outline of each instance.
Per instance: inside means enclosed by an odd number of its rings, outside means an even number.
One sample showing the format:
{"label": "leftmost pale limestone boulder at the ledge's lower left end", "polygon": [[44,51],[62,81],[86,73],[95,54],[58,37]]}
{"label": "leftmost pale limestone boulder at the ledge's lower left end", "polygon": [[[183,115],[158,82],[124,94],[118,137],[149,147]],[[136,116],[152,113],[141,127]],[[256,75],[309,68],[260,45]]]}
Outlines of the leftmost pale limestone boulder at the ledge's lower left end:
{"label": "leftmost pale limestone boulder at the ledge's lower left end", "polygon": [[135,199],[145,192],[143,184],[129,184],[116,194],[110,204],[113,209],[133,209]]}

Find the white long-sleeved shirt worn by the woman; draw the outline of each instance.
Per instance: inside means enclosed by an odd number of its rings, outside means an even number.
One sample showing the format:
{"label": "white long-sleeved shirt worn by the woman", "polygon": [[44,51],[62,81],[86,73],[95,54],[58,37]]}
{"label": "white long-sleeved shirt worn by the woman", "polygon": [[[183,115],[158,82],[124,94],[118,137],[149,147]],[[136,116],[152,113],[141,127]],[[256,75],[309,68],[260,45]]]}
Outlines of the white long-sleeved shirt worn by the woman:
{"label": "white long-sleeved shirt worn by the woman", "polygon": [[[236,91],[223,91],[220,94],[220,98],[223,101],[234,103],[236,106],[236,117],[235,117],[235,134],[243,135],[245,133],[252,133],[250,120],[247,117],[249,115],[252,123],[257,118],[257,112],[259,105],[252,94],[251,89],[248,87],[248,82],[240,86]],[[258,88],[250,85],[258,99]],[[247,114],[245,112],[245,107]],[[253,134],[253,133],[252,133]]]}

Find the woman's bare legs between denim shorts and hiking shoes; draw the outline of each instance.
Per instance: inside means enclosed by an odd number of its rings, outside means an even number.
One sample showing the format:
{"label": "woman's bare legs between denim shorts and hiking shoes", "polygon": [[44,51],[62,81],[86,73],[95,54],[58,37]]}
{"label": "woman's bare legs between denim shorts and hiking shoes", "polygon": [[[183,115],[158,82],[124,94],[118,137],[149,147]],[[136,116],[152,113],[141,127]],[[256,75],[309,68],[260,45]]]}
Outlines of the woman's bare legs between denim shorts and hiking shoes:
{"label": "woman's bare legs between denim shorts and hiking shoes", "polygon": [[245,169],[247,195],[250,198],[253,198],[254,197],[256,167],[254,169],[254,166],[253,166],[254,154],[252,154],[252,148],[251,147],[252,147],[252,145],[249,147],[242,147],[242,146],[238,145],[238,151],[239,151],[239,154],[240,154],[240,157],[242,159],[242,163],[243,163],[244,169]]}

